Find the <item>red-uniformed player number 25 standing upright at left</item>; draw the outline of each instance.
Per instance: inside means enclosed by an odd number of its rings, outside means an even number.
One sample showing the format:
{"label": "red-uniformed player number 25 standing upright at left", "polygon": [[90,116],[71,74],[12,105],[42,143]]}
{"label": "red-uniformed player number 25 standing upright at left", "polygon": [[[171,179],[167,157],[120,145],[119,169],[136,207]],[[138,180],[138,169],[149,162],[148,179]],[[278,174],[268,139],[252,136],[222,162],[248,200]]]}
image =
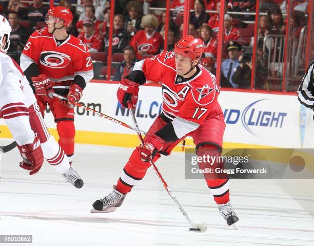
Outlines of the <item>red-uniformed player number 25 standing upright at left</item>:
{"label": "red-uniformed player number 25 standing upright at left", "polygon": [[[73,19],[69,9],[53,7],[49,9],[47,17],[47,27],[33,32],[29,37],[21,55],[21,67],[31,86],[31,77],[37,77],[37,83],[48,77],[55,93],[66,96],[70,103],[80,101],[83,89],[93,78],[88,48],[66,31]],[[59,144],[72,162],[74,109],[57,98],[38,94],[36,98],[43,116],[49,105],[57,125]]]}

